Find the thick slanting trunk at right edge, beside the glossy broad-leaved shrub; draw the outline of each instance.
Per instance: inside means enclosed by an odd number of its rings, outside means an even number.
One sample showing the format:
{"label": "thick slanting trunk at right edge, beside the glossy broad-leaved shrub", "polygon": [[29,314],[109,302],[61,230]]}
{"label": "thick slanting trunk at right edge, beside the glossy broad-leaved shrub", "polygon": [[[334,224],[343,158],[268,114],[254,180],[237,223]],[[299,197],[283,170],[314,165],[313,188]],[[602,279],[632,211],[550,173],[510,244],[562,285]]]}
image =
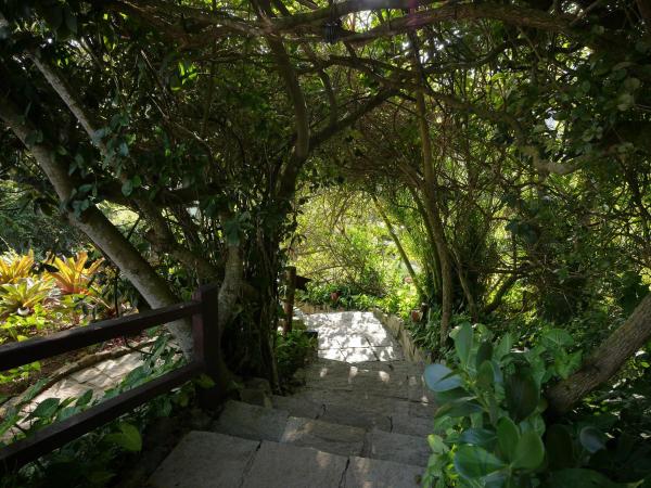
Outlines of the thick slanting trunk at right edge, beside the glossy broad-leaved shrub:
{"label": "thick slanting trunk at right edge, beside the glossy broad-leaved shrub", "polygon": [[550,412],[563,414],[597,386],[608,382],[620,368],[651,339],[651,294],[567,380],[547,391]]}

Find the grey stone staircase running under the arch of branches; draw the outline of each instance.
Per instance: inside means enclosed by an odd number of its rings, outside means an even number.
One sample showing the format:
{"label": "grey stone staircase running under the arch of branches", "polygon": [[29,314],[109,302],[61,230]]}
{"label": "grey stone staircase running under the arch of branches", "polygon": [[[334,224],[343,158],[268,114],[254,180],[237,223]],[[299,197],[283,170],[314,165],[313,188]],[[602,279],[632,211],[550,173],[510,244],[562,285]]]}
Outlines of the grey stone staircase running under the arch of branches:
{"label": "grey stone staircase running under the arch of branches", "polygon": [[[379,332],[375,323],[368,325]],[[342,332],[346,339],[360,333],[350,328]],[[324,337],[320,346],[330,346],[326,343],[333,341],[332,334]],[[397,345],[383,342],[380,347],[395,348],[399,355]],[[342,350],[349,352],[345,347]],[[354,352],[359,357],[360,351]],[[434,414],[422,380],[423,365],[399,359],[337,361],[326,358],[332,356],[326,347],[319,356],[306,369],[305,386],[296,394],[270,396],[271,404],[266,406],[227,402],[210,432],[188,434],[153,474],[150,485],[420,486],[431,453],[426,436]]]}

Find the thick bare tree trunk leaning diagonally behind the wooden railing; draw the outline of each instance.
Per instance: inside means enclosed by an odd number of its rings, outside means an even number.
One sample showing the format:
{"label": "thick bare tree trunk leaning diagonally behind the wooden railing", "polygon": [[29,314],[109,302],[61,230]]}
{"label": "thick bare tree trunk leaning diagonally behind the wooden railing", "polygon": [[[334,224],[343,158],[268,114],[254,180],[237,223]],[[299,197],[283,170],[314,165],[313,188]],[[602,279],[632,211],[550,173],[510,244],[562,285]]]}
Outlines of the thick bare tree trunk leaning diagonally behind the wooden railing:
{"label": "thick bare tree trunk leaning diagonally behind the wooden railing", "polygon": [[[37,129],[7,99],[0,99],[0,118],[29,150],[47,175],[59,198],[67,207],[67,202],[75,189],[67,167],[58,160],[56,154],[47,143],[28,143],[29,134]],[[142,255],[94,205],[91,205],[80,216],[67,210],[66,217],[73,226],[84,232],[98,248],[108,256],[152,307],[164,307],[177,301],[165,280],[154,271]],[[183,354],[189,357],[192,352],[192,335],[189,324],[186,321],[177,321],[168,324],[168,328]]]}

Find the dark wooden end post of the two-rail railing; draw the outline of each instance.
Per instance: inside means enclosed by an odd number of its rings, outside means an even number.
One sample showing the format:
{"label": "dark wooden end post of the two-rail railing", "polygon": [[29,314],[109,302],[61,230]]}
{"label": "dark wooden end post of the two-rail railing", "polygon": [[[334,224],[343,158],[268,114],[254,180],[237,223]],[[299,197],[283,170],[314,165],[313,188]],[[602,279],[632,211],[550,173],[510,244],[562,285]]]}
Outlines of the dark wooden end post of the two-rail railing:
{"label": "dark wooden end post of the two-rail railing", "polygon": [[221,352],[221,332],[218,329],[219,286],[201,286],[192,298],[201,303],[201,309],[192,316],[194,338],[194,360],[204,368],[204,373],[215,382],[215,386],[200,389],[200,402],[205,408],[215,408],[227,394],[230,374]]}

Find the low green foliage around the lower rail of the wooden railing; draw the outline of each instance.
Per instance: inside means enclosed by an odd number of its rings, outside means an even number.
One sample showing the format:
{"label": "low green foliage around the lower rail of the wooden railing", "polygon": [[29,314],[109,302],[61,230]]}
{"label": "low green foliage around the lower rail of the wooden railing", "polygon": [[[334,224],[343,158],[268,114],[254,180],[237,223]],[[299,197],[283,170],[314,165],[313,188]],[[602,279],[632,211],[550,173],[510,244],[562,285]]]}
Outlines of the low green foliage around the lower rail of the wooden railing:
{"label": "low green foliage around the lower rail of the wooden railing", "polygon": [[[47,398],[30,413],[24,413],[25,406],[34,400],[47,382],[46,378],[39,381],[8,408],[0,422],[0,436],[5,439],[0,446],[30,437],[46,425],[60,422],[100,401],[140,386],[173,371],[182,362],[178,350],[169,346],[169,337],[165,334],[159,335],[151,349],[143,354],[143,360],[142,365],[132,370],[119,385],[105,391],[103,398],[93,397],[92,390],[78,398]],[[0,487],[106,486],[129,459],[125,457],[142,449],[144,428],[155,419],[169,416],[175,409],[188,407],[194,396],[194,388],[193,383],[188,383],[175,391],[157,397],[132,413],[42,457],[38,463],[30,463],[17,473],[3,477]],[[21,428],[16,428],[17,425]]]}

